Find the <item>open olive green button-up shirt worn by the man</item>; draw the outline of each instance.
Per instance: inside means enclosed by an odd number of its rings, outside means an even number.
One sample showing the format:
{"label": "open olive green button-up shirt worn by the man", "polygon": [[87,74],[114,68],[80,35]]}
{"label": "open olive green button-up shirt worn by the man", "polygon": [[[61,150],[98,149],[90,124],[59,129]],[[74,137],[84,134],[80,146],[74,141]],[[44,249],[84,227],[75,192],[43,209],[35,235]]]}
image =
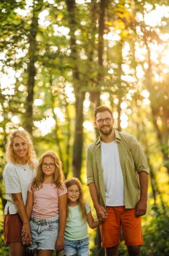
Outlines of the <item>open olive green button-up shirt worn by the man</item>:
{"label": "open olive green button-up shirt worn by the man", "polygon": [[[138,173],[148,173],[146,158],[139,142],[132,135],[115,130],[115,141],[118,145],[125,185],[125,207],[133,209],[139,201],[140,195]],[[101,137],[91,143],[87,149],[87,185],[90,183],[95,183],[99,203],[106,206],[105,183],[101,165]]]}

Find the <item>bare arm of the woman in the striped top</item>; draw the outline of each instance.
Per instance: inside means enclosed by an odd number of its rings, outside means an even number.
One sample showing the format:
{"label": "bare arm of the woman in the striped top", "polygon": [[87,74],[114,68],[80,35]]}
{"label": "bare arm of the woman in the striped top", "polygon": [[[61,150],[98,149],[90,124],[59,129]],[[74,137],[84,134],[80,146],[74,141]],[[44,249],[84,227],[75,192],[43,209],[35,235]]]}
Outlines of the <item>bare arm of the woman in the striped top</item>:
{"label": "bare arm of the woman in the striped top", "polygon": [[21,193],[12,194],[13,201],[18,210],[18,214],[23,222],[23,228],[21,230],[21,236],[24,236],[24,242],[26,244],[30,244],[32,242],[31,234],[30,234],[30,221],[27,218],[25,205],[23,203],[23,199],[21,197]]}

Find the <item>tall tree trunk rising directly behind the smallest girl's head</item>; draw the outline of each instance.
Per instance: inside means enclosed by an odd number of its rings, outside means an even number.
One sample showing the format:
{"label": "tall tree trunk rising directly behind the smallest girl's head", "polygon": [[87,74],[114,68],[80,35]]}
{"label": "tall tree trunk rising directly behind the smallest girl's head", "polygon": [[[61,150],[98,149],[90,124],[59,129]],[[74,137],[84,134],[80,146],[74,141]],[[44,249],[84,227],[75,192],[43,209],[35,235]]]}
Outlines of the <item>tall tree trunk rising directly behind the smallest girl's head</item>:
{"label": "tall tree trunk rising directly behind the smallest girl's head", "polygon": [[75,130],[74,130],[74,143],[73,143],[73,160],[72,168],[73,175],[80,179],[80,170],[82,166],[82,146],[83,146],[83,102],[84,102],[84,92],[82,92],[82,82],[80,81],[80,75],[78,71],[78,61],[80,57],[78,56],[78,47],[76,45],[76,1],[67,0],[68,8],[68,20],[70,26],[70,50],[72,59],[72,74],[73,74],[73,84],[74,84],[74,94],[76,98],[75,102]]}

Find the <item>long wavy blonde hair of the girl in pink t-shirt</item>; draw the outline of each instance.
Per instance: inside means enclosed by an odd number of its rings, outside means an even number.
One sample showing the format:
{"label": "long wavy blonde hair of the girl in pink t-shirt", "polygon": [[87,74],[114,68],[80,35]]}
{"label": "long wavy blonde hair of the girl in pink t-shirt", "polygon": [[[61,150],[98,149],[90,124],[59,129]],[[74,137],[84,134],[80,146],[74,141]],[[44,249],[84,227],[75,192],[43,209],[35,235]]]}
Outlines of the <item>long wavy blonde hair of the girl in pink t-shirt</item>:
{"label": "long wavy blonde hair of the girl in pink t-shirt", "polygon": [[56,170],[53,174],[53,182],[54,185],[58,188],[62,188],[62,183],[64,183],[64,174],[62,171],[62,162],[58,158],[58,156],[54,152],[46,152],[39,160],[36,177],[32,181],[32,189],[40,189],[42,187],[42,183],[44,182],[44,172],[42,172],[42,163],[44,162],[44,158],[50,156],[54,159],[54,163],[56,165]]}

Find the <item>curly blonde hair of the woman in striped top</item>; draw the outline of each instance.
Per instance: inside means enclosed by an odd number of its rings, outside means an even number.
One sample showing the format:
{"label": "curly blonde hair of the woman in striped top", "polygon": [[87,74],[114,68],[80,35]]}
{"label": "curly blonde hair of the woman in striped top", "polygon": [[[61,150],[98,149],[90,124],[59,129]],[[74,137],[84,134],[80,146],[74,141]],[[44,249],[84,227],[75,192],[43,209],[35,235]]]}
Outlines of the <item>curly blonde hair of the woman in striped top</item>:
{"label": "curly blonde hair of the woman in striped top", "polygon": [[27,143],[27,154],[25,156],[29,166],[31,169],[34,169],[36,166],[34,164],[34,159],[36,158],[36,153],[34,150],[34,146],[32,143],[32,139],[30,134],[25,130],[15,129],[11,132],[7,140],[6,152],[5,152],[5,160],[7,162],[13,162],[13,164],[17,164],[17,157],[13,152],[13,139],[15,137],[19,137]]}

